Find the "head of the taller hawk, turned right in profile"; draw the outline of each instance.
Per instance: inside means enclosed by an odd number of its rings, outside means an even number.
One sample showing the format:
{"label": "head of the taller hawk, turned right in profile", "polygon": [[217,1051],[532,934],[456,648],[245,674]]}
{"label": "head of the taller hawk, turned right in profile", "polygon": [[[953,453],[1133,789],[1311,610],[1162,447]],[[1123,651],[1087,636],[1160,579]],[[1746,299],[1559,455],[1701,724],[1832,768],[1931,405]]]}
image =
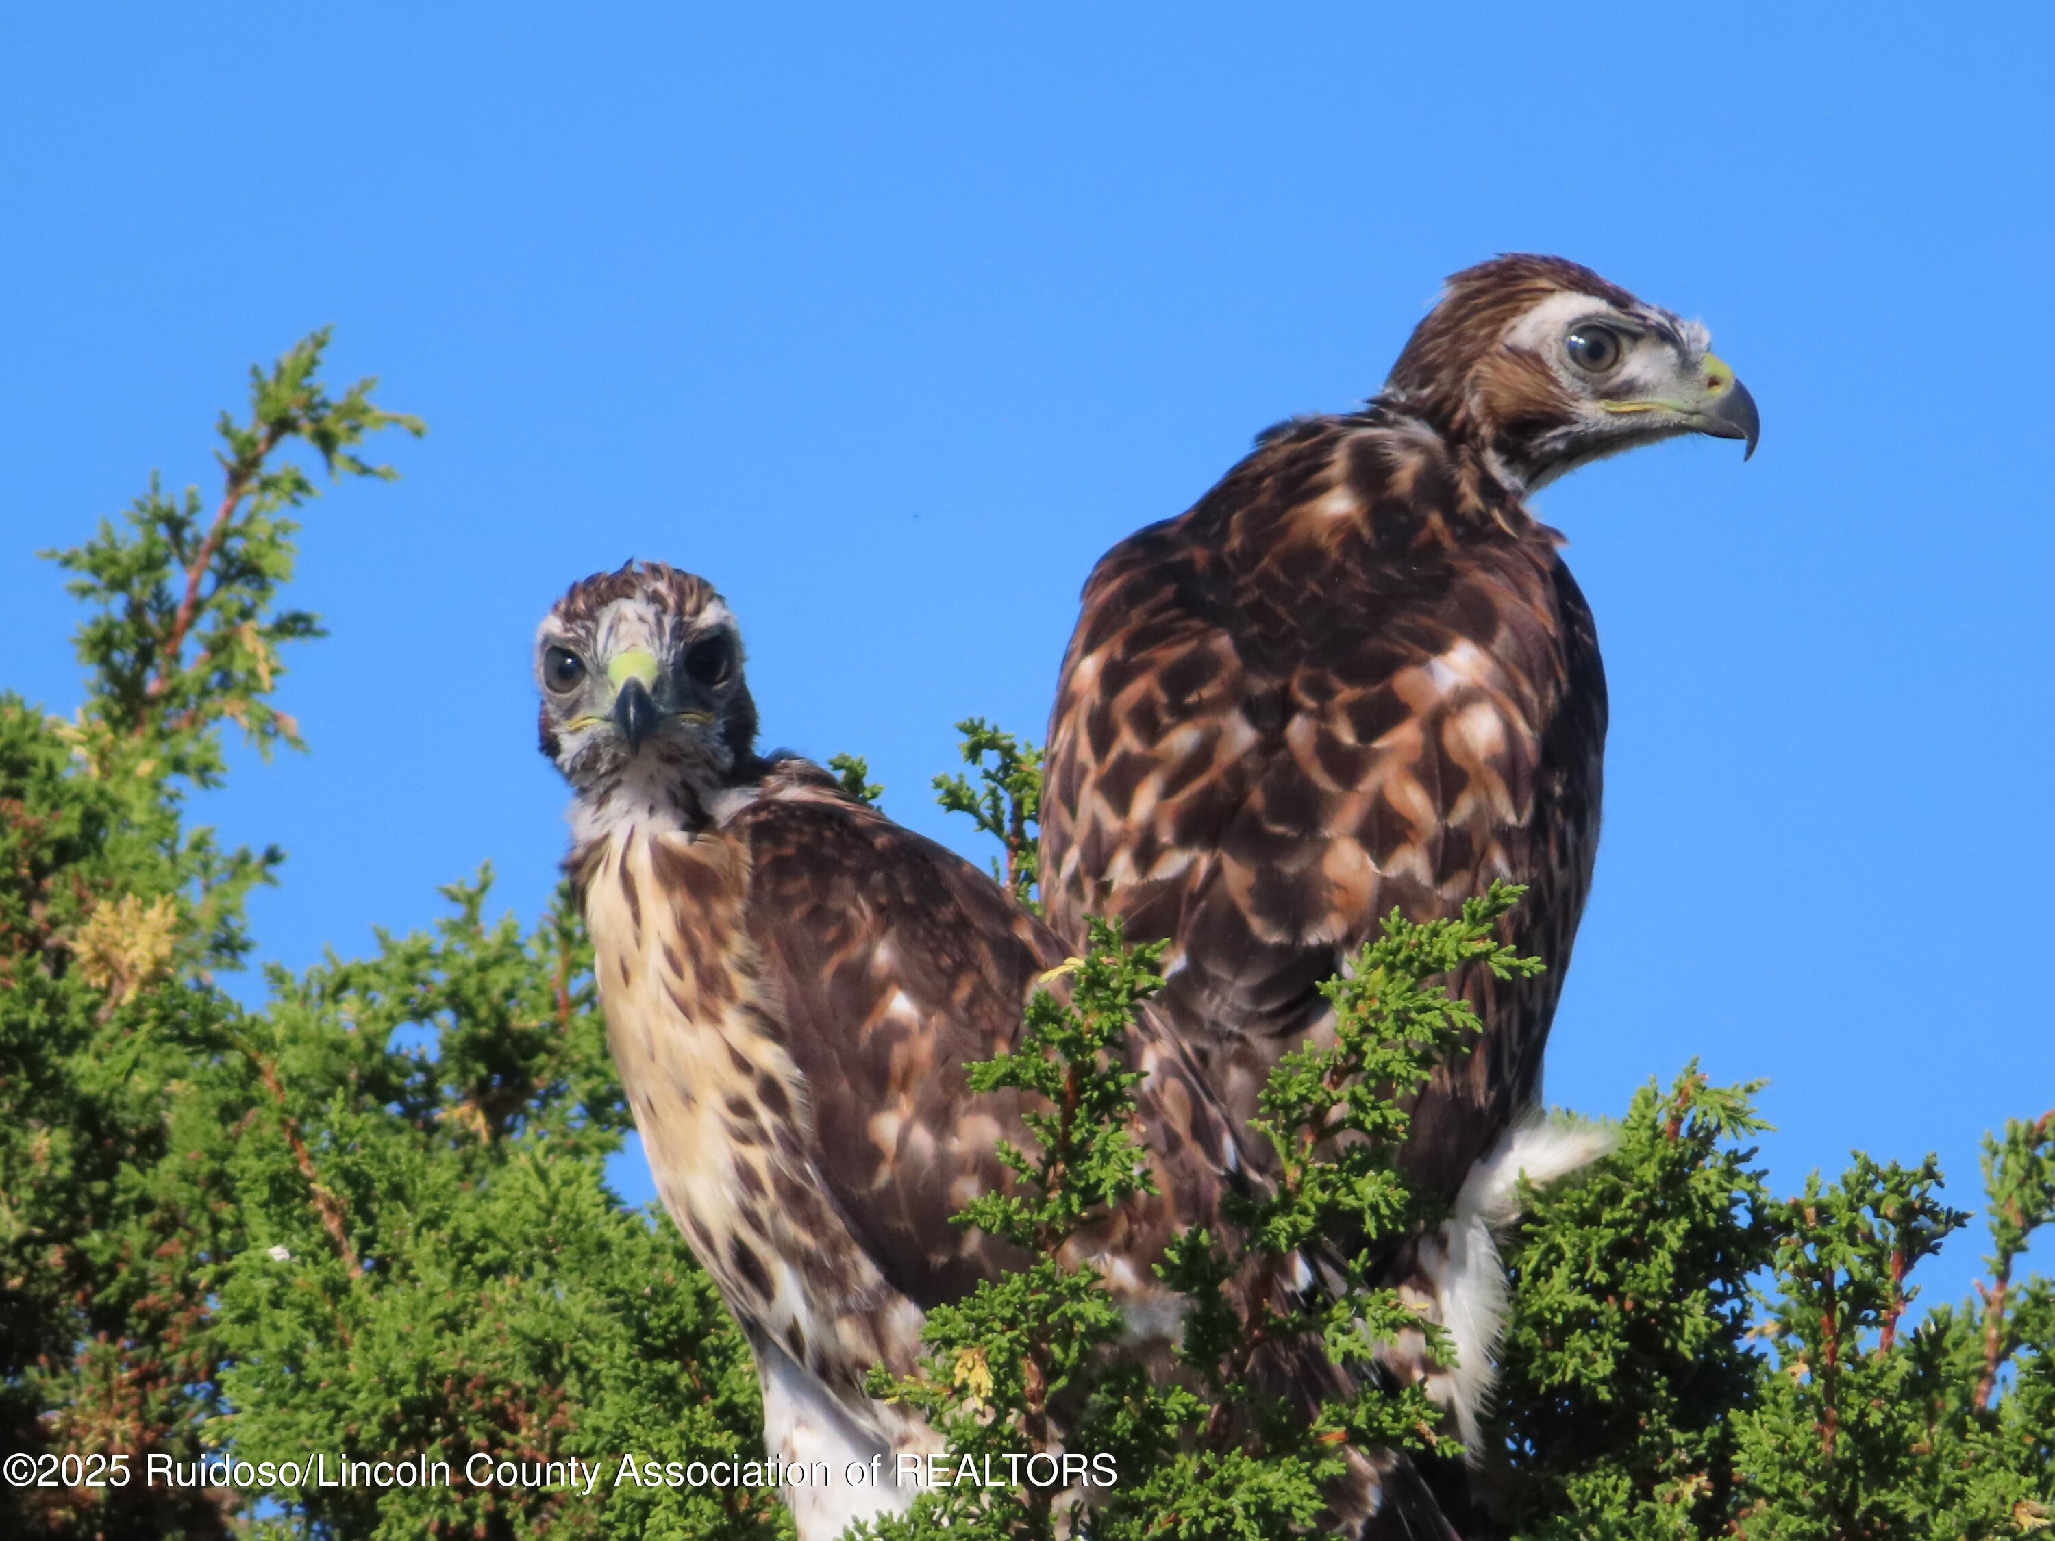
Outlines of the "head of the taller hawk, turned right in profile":
{"label": "head of the taller hawk, turned right in profile", "polygon": [[1747,440],[1755,399],[1695,321],[1562,257],[1494,257],[1449,279],[1385,399],[1471,440],[1533,489],[1677,434]]}

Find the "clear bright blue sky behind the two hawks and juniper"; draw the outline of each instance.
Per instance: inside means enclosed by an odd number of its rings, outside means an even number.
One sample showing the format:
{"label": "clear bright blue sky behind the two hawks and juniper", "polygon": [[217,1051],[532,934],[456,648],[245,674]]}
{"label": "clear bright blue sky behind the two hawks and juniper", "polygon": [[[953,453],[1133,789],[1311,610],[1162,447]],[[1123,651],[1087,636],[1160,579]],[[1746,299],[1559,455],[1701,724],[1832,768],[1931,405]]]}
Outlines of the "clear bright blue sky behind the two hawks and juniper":
{"label": "clear bright blue sky behind the two hawks and juniper", "polygon": [[530,635],[631,553],[725,590],[769,740],[962,844],[949,723],[1040,736],[1108,544],[1375,390],[1445,273],[1564,253],[1706,318],[1765,429],[1539,499],[1613,688],[1549,1095],[1695,1054],[1771,1079],[1780,1186],[1938,1149],[1969,1206],[2055,1101],[2055,23],[1441,10],[10,6],[0,680],[76,703],[31,551],[212,483],[245,366],[335,323],[432,434],[310,510],[312,754],[203,810],[292,853],[263,955],[487,859],[538,908]]}

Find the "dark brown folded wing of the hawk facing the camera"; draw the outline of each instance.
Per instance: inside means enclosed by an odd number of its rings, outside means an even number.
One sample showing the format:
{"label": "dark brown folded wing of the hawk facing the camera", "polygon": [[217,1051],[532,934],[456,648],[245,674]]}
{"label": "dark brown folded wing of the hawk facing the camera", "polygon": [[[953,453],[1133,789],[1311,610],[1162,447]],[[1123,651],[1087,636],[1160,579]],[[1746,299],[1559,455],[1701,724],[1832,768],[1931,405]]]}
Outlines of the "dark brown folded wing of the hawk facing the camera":
{"label": "dark brown folded wing of the hawk facing the camera", "polygon": [[[949,1223],[972,1196],[1011,1186],[1001,1138],[1030,1144],[1030,1103],[974,1093],[966,1064],[1015,1044],[1023,1003],[1067,949],[986,873],[845,799],[806,762],[781,762],[732,828],[750,849],[750,937],[851,1233],[923,1309],[1017,1268],[1013,1249]],[[1122,1253],[1116,1278],[1149,1292],[1149,1264],[1180,1225],[1219,1225],[1239,1155],[1147,1011],[1130,1054],[1147,1073],[1136,1091],[1159,1192],[1081,1249]]]}

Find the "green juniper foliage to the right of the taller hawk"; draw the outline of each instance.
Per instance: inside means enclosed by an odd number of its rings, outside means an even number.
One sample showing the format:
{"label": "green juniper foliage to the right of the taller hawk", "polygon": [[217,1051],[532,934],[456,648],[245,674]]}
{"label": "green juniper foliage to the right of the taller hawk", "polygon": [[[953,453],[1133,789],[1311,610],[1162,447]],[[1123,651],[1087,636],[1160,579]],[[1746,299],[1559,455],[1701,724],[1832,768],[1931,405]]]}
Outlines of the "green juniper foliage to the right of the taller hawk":
{"label": "green juniper foliage to the right of the taller hawk", "polygon": [[[2016,1537],[2055,1510],[2055,1292],[2014,1264],[2055,1212],[2055,1114],[1987,1142],[1981,1309],[1903,1331],[1913,1268],[1967,1216],[1856,1155],[1773,1200],[1755,1087],[1644,1089],[1517,1245],[1494,1473],[1506,1533]],[[1767,1282],[1749,1290],[1751,1278]],[[1771,1346],[1769,1354],[1753,1348]],[[2010,1387],[2006,1381],[2010,1379]]]}

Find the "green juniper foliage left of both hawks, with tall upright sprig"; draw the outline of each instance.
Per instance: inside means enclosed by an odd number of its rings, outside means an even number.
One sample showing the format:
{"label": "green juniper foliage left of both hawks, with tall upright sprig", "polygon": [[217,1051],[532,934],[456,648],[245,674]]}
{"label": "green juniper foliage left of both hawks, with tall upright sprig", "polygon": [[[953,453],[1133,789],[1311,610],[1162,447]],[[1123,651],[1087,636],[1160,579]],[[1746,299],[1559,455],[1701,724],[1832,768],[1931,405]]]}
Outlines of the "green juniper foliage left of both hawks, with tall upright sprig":
{"label": "green juniper foliage left of both hawks, with tall upright sprig", "polygon": [[[760,1440],[748,1354],[668,1225],[602,1163],[625,1112],[567,894],[487,923],[487,877],[434,937],[271,970],[271,1005],[212,984],[249,943],[242,898],[279,853],[220,851],[189,793],[222,731],[298,748],[271,694],[312,481],[419,431],[319,378],[327,333],[257,372],[222,419],[224,491],[156,483],[51,553],[95,606],[70,721],[0,697],[0,1446],[127,1453],[125,1486],[0,1488],[0,1533],[771,1537],[758,1490],[475,1488],[464,1461],[645,1459]],[[436,1488],[144,1479],[312,1455],[450,1461]],[[62,1479],[62,1469],[60,1469]]]}

